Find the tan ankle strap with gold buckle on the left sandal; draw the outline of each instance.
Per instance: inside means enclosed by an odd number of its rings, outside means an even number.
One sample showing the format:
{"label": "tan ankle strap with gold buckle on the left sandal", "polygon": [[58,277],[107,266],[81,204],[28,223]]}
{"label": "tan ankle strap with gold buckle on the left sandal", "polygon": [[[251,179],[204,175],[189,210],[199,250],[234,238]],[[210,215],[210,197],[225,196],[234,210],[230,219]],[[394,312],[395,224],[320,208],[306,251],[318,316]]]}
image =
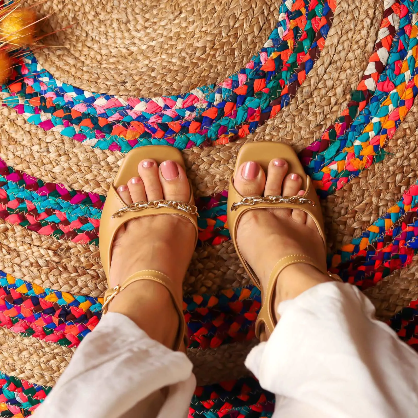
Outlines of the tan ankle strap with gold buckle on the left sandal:
{"label": "tan ankle strap with gold buckle on the left sandal", "polygon": [[188,345],[188,339],[187,339],[187,334],[186,334],[187,325],[186,325],[186,321],[183,315],[182,301],[177,300],[175,296],[176,292],[174,291],[174,286],[173,286],[173,282],[171,281],[171,279],[164,273],[161,273],[160,271],[157,271],[157,270],[138,271],[137,273],[128,277],[122,284],[117,285],[114,288],[107,289],[107,291],[104,293],[104,298],[103,298],[104,300],[104,303],[102,306],[103,314],[107,313],[110,302],[119,292],[121,292],[122,290],[125,290],[127,286],[139,280],[152,280],[152,281],[158,282],[168,290],[168,292],[170,293],[171,299],[173,301],[174,307],[176,308],[178,319],[179,319],[178,334],[177,334],[176,342],[174,343],[173,350],[175,351],[178,350],[181,346],[182,341],[184,341],[184,343],[186,344],[186,348],[187,348],[187,345]]}

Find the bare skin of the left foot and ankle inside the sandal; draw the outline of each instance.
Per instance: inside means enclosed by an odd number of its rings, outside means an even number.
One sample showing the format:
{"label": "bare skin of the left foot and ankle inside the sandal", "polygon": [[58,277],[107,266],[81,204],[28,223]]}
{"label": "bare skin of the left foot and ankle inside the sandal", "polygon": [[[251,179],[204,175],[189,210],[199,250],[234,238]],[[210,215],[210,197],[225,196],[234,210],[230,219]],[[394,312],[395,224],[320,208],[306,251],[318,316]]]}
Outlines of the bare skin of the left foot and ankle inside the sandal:
{"label": "bare skin of the left foot and ankle inside the sandal", "polygon": [[[138,176],[117,193],[125,204],[158,199],[189,202],[190,186],[183,168],[174,161],[147,159],[138,165]],[[194,251],[195,229],[181,215],[155,214],[123,225],[113,242],[110,285],[122,284],[140,270],[158,270],[175,284],[179,295]],[[133,283],[110,303],[109,311],[135,321],[148,335],[172,347],[179,325],[178,314],[166,288],[150,280]]]}

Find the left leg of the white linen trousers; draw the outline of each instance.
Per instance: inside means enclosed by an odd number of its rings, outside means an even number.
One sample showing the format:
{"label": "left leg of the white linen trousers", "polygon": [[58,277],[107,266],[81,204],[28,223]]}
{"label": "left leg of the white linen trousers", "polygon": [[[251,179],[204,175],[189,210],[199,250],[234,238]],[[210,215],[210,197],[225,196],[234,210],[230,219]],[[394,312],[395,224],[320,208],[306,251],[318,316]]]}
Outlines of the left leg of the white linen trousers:
{"label": "left leg of the white linen trousers", "polygon": [[[34,416],[186,418],[196,387],[192,368],[186,354],[150,339],[127,316],[109,312],[81,342]],[[163,397],[159,389],[167,386]]]}

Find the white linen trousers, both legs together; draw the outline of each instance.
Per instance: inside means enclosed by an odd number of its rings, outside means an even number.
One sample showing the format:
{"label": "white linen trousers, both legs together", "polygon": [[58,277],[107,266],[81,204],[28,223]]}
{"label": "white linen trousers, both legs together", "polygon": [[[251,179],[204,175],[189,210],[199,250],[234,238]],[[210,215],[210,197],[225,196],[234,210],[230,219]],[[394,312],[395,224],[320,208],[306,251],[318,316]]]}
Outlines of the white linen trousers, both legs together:
{"label": "white linen trousers, both legs together", "polygon": [[[280,303],[246,365],[276,394],[274,418],[416,418],[418,356],[352,285],[329,282]],[[185,418],[192,364],[130,319],[105,315],[36,418]],[[170,386],[167,398],[158,389]]]}

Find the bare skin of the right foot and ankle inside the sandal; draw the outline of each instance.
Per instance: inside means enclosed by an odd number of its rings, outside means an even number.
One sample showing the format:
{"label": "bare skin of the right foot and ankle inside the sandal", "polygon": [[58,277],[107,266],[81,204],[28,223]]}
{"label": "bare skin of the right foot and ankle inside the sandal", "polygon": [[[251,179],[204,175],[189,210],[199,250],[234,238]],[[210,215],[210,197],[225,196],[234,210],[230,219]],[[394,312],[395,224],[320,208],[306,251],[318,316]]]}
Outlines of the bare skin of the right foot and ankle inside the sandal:
{"label": "bare skin of the right foot and ankle inside the sandal", "polygon": [[[254,161],[243,163],[234,177],[234,186],[246,196],[303,195],[302,178],[288,173],[286,161],[270,161],[267,178]],[[274,265],[286,255],[304,254],[325,260],[326,252],[314,220],[300,209],[252,209],[245,212],[237,229],[242,256],[260,279],[262,290],[268,285]],[[280,273],[275,293],[275,312],[280,301],[296,297],[312,285],[329,281],[316,268],[293,264]],[[276,319],[278,319],[276,317]]]}

